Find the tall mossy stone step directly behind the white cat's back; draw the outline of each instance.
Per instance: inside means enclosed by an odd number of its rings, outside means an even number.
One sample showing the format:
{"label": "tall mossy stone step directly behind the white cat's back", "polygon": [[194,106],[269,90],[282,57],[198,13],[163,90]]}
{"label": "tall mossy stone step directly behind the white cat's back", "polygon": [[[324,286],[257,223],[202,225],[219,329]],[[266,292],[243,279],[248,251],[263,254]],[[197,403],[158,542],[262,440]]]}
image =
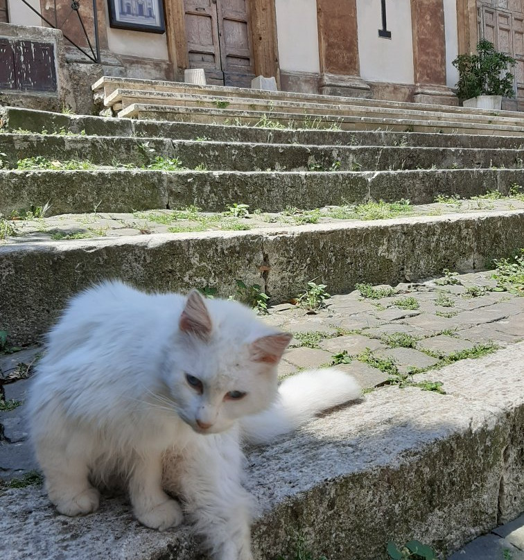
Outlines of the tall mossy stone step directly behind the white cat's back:
{"label": "tall mossy stone step directly behind the white cat's back", "polygon": [[[236,279],[273,302],[308,279],[348,292],[355,283],[396,284],[489,265],[524,247],[524,210],[417,216],[201,233],[42,240],[0,246],[2,328],[12,344],[35,342],[67,299],[92,282],[121,278],[148,290],[206,286],[227,296]],[[416,248],[416,250],[414,250]]]}

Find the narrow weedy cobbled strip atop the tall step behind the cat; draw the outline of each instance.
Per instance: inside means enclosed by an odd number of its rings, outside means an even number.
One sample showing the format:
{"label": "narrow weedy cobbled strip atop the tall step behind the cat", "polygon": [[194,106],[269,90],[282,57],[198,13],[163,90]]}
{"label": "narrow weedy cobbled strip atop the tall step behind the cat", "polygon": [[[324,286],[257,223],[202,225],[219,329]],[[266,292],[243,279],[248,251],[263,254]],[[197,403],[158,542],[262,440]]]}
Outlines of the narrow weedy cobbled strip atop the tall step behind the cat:
{"label": "narrow weedy cobbled strip atop the tall step behind the cat", "polygon": [[[9,221],[12,230],[3,243],[38,243],[46,240],[69,240],[143,234],[166,234],[191,231],[234,231],[297,226],[311,223],[349,223],[403,216],[440,216],[442,214],[496,212],[524,209],[524,195],[503,198],[474,197],[471,200],[448,198],[448,202],[392,204],[372,202],[358,207],[338,206],[314,210],[288,208],[279,213],[251,212],[244,216],[243,204],[225,212],[202,212],[196,207],[184,210],[150,210],[133,213],[94,212],[62,214],[49,218],[20,216]],[[0,241],[1,242],[1,241]]]}

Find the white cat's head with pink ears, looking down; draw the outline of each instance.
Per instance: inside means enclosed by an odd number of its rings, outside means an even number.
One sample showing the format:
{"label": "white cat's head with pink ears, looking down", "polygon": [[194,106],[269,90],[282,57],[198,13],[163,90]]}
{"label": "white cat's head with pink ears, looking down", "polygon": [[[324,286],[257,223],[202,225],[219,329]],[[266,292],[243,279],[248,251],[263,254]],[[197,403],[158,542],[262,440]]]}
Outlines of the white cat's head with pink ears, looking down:
{"label": "white cat's head with pink ears, looking down", "polygon": [[265,410],[291,338],[236,301],[204,300],[193,290],[164,373],[177,414],[195,432],[211,434]]}

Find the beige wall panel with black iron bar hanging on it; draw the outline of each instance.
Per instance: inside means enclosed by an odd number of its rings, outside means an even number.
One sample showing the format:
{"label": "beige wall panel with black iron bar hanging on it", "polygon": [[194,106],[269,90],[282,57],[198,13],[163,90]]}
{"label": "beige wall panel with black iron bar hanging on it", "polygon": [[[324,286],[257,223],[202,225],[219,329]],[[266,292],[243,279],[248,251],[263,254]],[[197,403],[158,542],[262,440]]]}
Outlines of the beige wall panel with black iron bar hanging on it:
{"label": "beige wall panel with black iron bar hanging on it", "polygon": [[391,39],[378,37],[382,28],[381,0],[357,0],[360,76],[378,82],[413,83],[413,43],[410,0],[386,1]]}

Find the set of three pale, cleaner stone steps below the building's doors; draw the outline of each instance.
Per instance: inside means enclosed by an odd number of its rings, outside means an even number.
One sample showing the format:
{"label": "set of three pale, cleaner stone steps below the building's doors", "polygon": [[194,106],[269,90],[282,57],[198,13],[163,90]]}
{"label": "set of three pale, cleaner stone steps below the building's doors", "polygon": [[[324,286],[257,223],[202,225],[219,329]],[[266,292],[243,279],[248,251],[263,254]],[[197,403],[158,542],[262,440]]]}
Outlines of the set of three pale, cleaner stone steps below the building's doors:
{"label": "set of three pale, cleaner stone steps below the building's doors", "polygon": [[521,136],[524,123],[512,111],[116,77],[101,78],[93,90],[114,114],[139,119],[508,136]]}

